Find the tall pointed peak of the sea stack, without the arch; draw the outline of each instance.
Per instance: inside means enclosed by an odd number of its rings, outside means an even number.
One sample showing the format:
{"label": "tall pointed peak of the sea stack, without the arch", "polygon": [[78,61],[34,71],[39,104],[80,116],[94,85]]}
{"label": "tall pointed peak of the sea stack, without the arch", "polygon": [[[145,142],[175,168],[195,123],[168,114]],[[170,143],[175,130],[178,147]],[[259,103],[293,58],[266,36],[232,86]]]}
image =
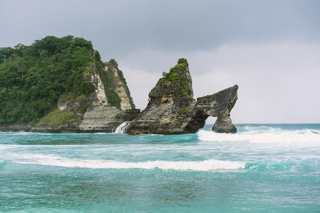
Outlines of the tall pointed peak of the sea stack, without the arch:
{"label": "tall pointed peak of the sea stack, without the arch", "polygon": [[196,101],[187,61],[180,61],[163,75],[164,78],[150,91],[146,109],[130,124],[129,134],[189,133],[185,129],[190,114],[186,112]]}

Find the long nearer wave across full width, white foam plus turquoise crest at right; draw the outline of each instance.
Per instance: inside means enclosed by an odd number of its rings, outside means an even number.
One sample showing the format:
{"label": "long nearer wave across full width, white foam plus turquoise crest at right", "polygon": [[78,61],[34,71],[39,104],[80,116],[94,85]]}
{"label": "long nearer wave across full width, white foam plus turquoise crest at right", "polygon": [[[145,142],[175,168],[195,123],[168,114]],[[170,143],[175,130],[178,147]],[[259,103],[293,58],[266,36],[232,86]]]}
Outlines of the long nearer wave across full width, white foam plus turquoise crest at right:
{"label": "long nearer wave across full width, white foam plus turquoise crest at right", "polygon": [[[257,162],[228,161],[208,159],[202,161],[165,161],[154,160],[145,162],[124,162],[102,159],[70,159],[52,155],[24,155],[19,160],[12,160],[19,164],[36,164],[51,167],[65,168],[88,168],[88,169],[161,169],[178,171],[276,171],[276,172],[298,172],[309,171],[319,173],[318,165],[320,159],[284,159],[284,160],[265,160]],[[0,161],[0,168],[7,165],[10,161]]]}

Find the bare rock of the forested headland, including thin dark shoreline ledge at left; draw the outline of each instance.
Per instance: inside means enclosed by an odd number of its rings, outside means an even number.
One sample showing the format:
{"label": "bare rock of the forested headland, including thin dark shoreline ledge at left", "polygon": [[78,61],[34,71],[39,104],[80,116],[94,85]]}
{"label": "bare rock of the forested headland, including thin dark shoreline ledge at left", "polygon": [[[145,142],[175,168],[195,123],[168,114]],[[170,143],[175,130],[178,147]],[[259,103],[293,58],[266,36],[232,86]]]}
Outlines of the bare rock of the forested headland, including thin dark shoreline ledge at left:
{"label": "bare rock of the forested headland, including thin dark shoreline ledge at left", "polygon": [[[95,64],[89,64],[88,68],[92,71],[84,79],[94,85],[94,93],[88,98],[66,99],[58,102],[58,108],[63,113],[76,111],[80,112],[82,107],[86,110],[82,114],[81,121],[70,122],[55,127],[38,126],[31,128],[32,131],[42,132],[112,132],[116,127],[125,121],[132,121],[138,116],[140,110],[132,109],[131,97],[127,93],[126,82],[119,77],[118,68],[112,64],[105,64],[102,74],[99,74]],[[108,73],[107,73],[108,72]],[[112,84],[114,94],[118,94],[121,99],[120,108],[108,103],[105,85],[102,81],[103,75],[108,75],[109,86]],[[110,93],[110,92],[109,92]],[[112,94],[112,93],[111,93]]]}

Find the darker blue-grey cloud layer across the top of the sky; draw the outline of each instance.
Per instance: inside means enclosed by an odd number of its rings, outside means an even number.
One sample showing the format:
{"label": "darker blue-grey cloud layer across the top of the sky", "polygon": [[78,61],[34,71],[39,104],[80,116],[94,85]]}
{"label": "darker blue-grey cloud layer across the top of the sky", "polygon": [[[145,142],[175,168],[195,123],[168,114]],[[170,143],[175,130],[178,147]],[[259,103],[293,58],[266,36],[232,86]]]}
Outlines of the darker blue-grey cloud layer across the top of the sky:
{"label": "darker blue-grey cloud layer across the top of the sky", "polygon": [[316,0],[7,1],[0,9],[1,44],[73,34],[92,40],[103,57],[118,58],[141,48],[179,52],[223,43],[318,41],[319,9]]}

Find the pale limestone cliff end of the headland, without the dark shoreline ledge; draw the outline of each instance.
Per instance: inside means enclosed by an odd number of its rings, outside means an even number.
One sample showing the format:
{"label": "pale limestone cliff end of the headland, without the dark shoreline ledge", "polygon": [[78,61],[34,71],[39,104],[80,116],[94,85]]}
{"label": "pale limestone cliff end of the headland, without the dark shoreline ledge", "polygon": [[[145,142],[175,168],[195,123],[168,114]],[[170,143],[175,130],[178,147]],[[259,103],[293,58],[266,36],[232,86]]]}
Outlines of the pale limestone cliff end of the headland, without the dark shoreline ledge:
{"label": "pale limestone cliff end of the headland, without the dark shoreline ledge", "polygon": [[[93,70],[95,70],[93,68]],[[101,82],[100,76],[94,72],[93,83],[95,84],[96,95],[95,104],[92,104],[87,108],[83,114],[83,119],[79,124],[78,131],[80,132],[112,132],[117,126],[125,121],[131,121],[135,118],[140,110],[132,109],[132,98],[130,97],[129,89],[121,78],[119,69],[116,65],[106,63],[104,66],[103,75],[108,75],[112,82],[109,82],[109,86],[113,85],[113,91],[121,99],[120,108],[108,104],[105,100],[105,89]],[[97,80],[96,80],[97,79]],[[100,88],[100,89],[99,89]]]}

